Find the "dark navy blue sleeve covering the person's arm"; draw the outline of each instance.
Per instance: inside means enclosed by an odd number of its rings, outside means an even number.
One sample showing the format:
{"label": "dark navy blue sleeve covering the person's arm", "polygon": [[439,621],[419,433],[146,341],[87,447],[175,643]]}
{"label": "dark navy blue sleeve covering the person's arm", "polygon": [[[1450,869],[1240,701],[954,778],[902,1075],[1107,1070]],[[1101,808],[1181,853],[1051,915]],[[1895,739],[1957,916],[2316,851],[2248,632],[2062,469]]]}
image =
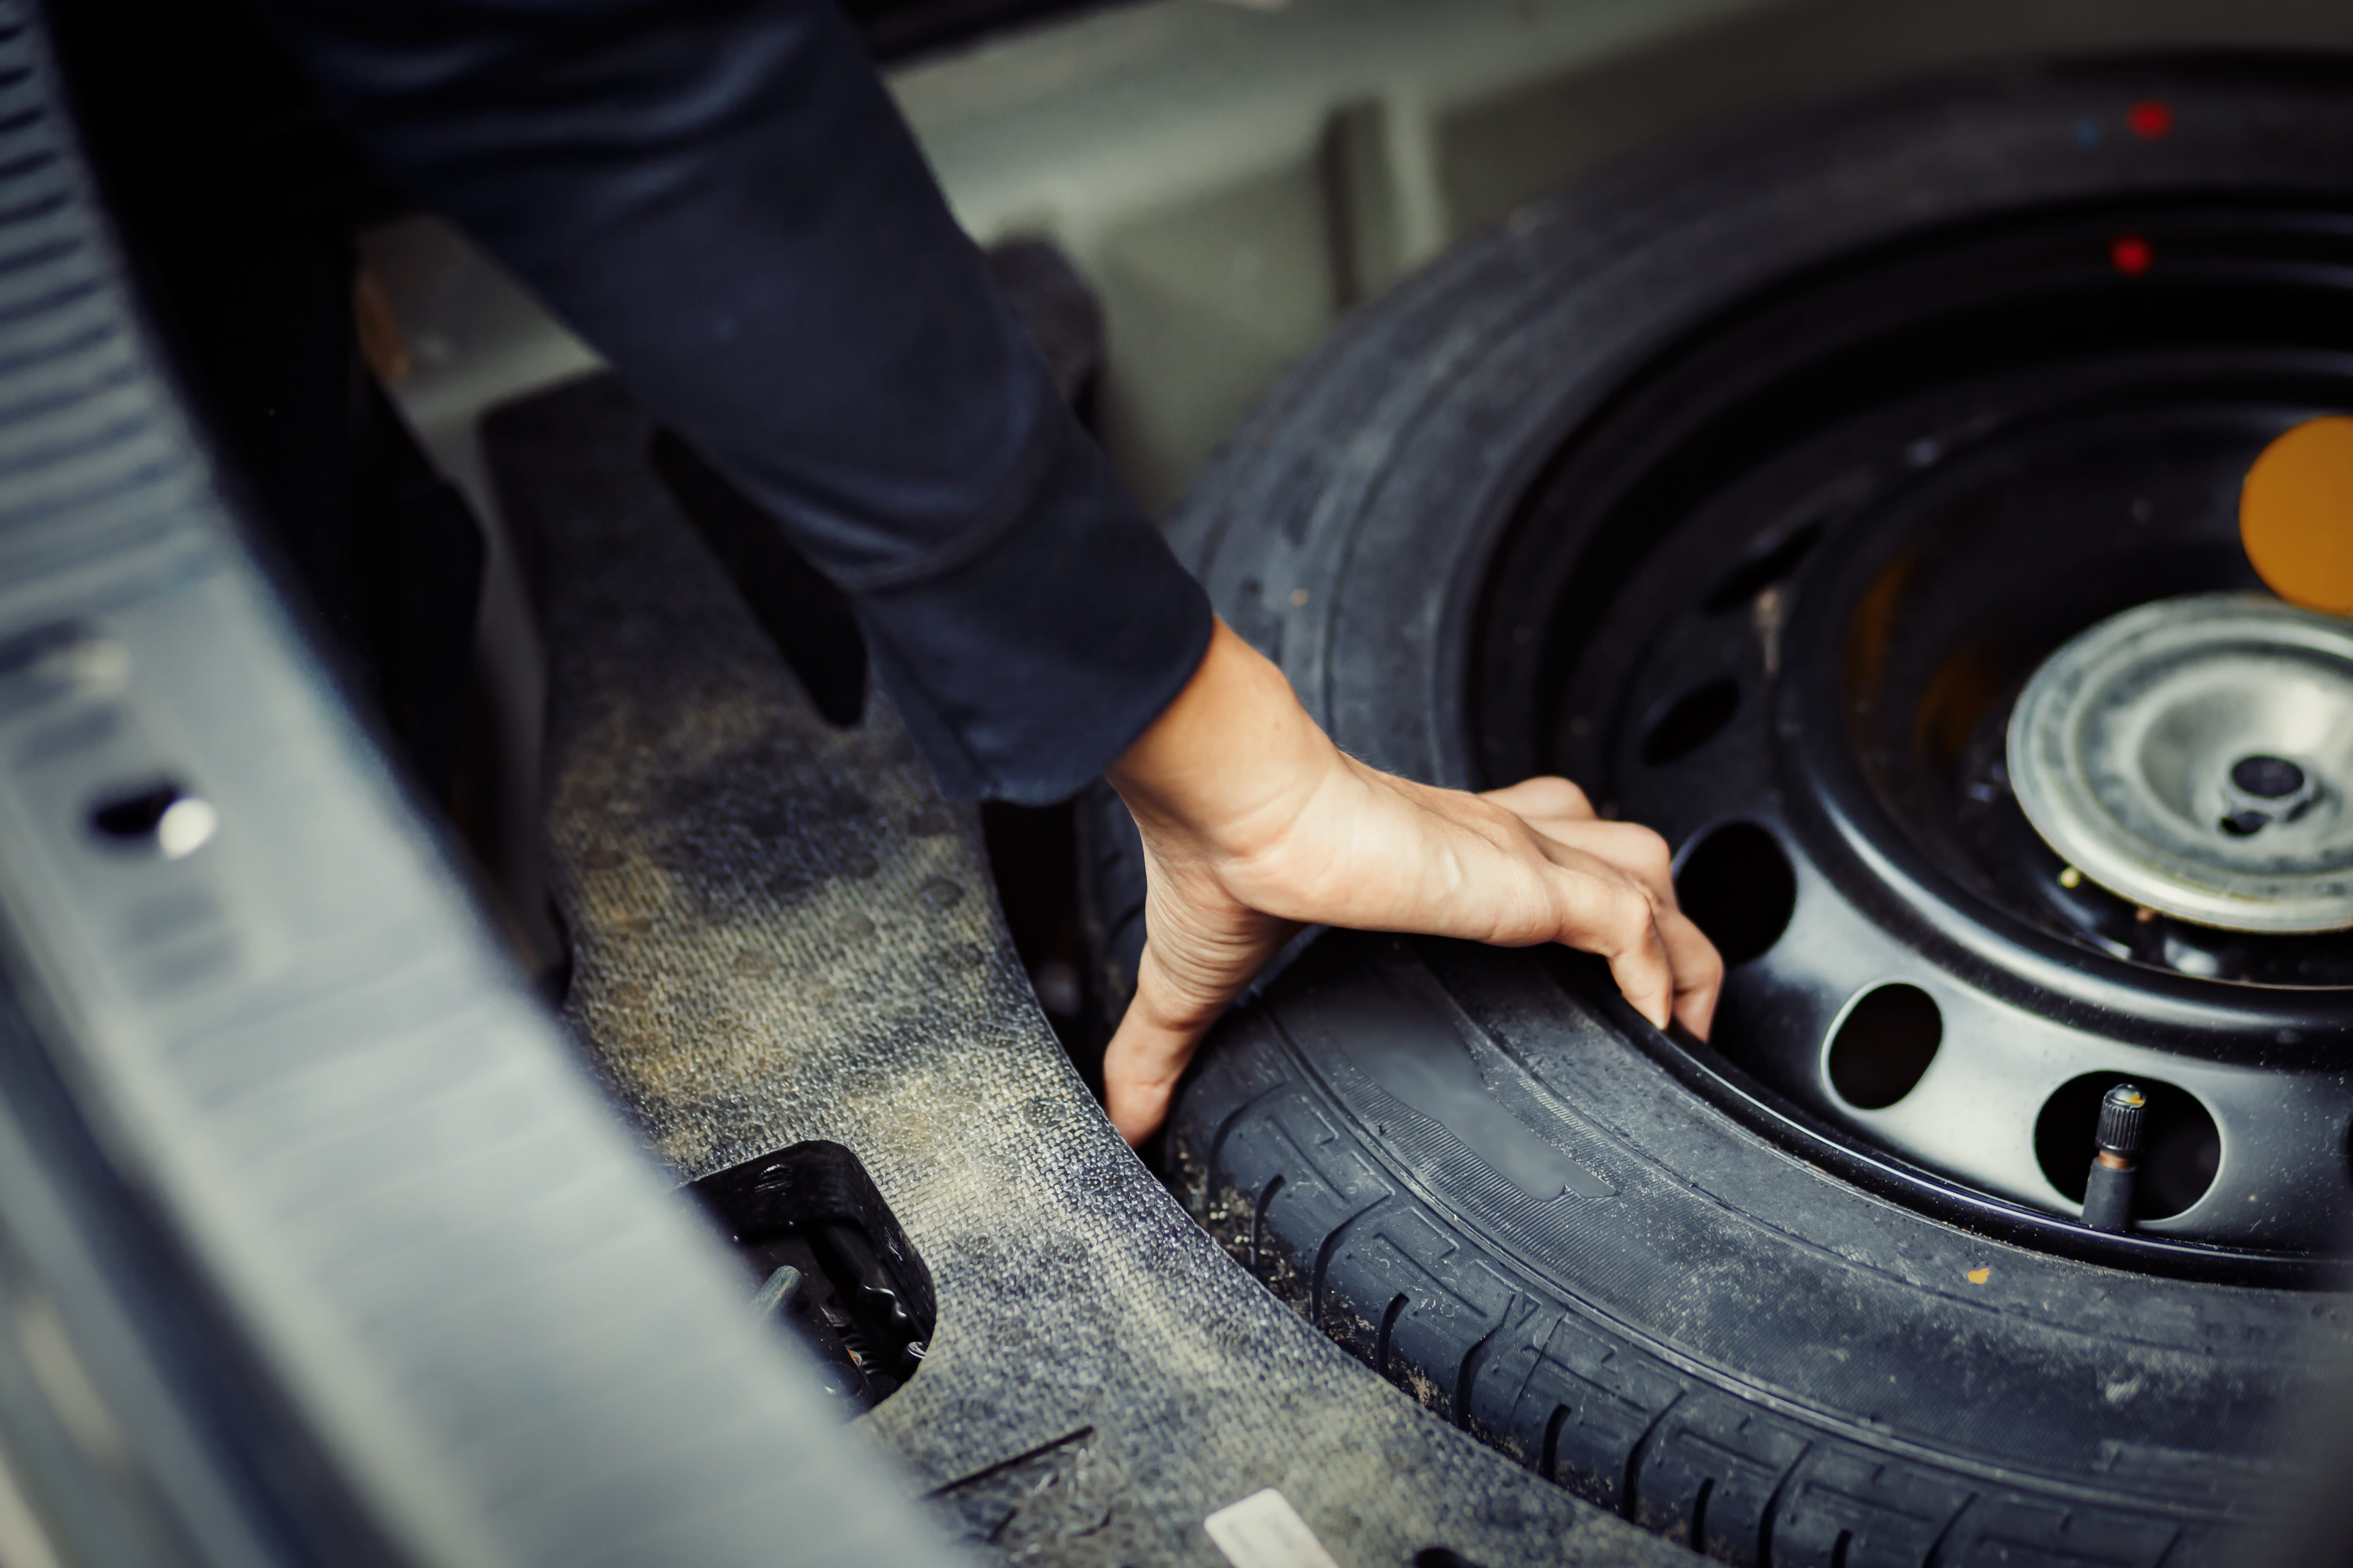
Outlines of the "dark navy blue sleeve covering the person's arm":
{"label": "dark navy blue sleeve covering the person's arm", "polygon": [[859,607],[953,797],[1078,790],[1209,604],[1078,428],[831,0],[259,0]]}

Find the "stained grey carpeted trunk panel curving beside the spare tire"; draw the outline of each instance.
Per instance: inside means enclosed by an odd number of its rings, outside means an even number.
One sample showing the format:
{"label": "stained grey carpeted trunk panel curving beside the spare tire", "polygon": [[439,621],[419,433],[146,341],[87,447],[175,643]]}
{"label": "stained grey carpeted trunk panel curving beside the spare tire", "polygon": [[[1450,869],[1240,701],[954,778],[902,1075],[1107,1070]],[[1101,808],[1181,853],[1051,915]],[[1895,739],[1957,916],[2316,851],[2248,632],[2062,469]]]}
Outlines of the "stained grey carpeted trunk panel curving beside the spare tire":
{"label": "stained grey carpeted trunk panel curving beside the spare tire", "polygon": [[649,435],[605,378],[492,423],[544,552],[567,1013],[680,1178],[802,1138],[873,1171],[939,1286],[929,1361],[866,1418],[913,1490],[1024,1563],[1214,1566],[1202,1516],[1266,1486],[1348,1568],[1685,1561],[1433,1420],[1184,1215],[1047,1030],[976,813],[882,696],[819,717]]}

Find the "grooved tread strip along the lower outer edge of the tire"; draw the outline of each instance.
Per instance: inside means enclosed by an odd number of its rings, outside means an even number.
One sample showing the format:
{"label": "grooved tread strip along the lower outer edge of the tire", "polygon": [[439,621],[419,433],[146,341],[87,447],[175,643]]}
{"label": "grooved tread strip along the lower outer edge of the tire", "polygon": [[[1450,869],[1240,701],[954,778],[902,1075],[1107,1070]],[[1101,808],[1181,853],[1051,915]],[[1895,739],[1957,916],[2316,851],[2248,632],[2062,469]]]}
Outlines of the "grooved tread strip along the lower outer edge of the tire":
{"label": "grooved tread strip along the lower outer edge of the tire", "polygon": [[1294,1312],[1534,1474],[1727,1563],[2167,1568],[2195,1523],[2085,1507],[1762,1410],[1612,1333],[1388,1178],[1273,1030],[1186,1091],[1193,1211]]}

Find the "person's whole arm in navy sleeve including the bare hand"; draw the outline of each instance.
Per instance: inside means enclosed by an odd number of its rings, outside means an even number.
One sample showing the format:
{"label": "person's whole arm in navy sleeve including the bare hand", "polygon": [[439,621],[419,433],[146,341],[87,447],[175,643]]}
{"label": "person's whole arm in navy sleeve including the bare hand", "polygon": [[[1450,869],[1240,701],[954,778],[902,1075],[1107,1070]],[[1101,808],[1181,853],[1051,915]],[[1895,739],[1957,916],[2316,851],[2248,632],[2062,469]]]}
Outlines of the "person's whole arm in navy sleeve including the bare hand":
{"label": "person's whole arm in navy sleeve including the bare hand", "polygon": [[1588,947],[1706,1027],[1720,966],[1657,835],[1558,778],[1367,769],[1214,625],[828,0],[254,2],[391,174],[852,595],[948,795],[1059,799],[1118,759],[1151,875],[1122,1133],[1299,922]]}

